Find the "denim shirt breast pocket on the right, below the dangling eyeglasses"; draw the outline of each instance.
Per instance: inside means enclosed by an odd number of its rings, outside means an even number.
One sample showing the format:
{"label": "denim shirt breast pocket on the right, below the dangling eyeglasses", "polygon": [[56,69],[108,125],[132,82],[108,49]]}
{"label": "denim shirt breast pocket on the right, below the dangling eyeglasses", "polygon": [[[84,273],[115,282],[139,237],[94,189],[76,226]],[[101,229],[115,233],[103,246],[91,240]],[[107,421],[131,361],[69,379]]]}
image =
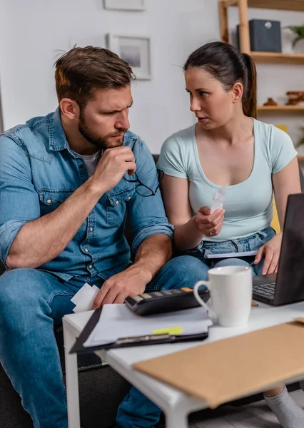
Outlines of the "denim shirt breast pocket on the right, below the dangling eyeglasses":
{"label": "denim shirt breast pocket on the right, below the dangling eyeglasses", "polygon": [[123,190],[119,193],[108,195],[106,201],[106,223],[119,226],[126,216],[127,203],[131,200],[134,189]]}

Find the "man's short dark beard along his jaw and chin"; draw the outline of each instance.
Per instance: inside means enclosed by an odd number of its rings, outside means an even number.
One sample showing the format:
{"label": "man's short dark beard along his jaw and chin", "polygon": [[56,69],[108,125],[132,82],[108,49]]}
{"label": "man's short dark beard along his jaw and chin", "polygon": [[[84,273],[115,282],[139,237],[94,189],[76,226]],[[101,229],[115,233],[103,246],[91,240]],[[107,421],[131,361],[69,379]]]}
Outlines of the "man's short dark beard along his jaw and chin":
{"label": "man's short dark beard along his jaw and chin", "polygon": [[[123,134],[128,131],[125,128],[118,128],[116,133],[108,133],[106,136],[98,136],[96,133],[93,133],[88,126],[86,126],[86,121],[83,117],[83,112],[80,111],[78,131],[81,133],[81,136],[86,139],[89,143],[93,144],[98,148],[106,150],[107,148],[120,147],[123,145]],[[120,136],[121,138],[116,138],[114,141],[109,141],[111,137]]]}

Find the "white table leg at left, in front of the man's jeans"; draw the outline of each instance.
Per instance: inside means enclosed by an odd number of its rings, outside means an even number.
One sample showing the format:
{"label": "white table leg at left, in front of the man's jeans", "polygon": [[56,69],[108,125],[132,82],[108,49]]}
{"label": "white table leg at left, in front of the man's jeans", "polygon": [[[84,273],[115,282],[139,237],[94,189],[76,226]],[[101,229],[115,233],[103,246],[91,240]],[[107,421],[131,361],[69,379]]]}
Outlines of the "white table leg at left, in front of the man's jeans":
{"label": "white table leg at left, in front of the man's jeans", "polygon": [[76,340],[69,330],[69,325],[63,319],[64,326],[64,356],[66,360],[66,399],[68,404],[69,428],[80,427],[79,394],[78,394],[78,367],[77,355],[69,354]]}

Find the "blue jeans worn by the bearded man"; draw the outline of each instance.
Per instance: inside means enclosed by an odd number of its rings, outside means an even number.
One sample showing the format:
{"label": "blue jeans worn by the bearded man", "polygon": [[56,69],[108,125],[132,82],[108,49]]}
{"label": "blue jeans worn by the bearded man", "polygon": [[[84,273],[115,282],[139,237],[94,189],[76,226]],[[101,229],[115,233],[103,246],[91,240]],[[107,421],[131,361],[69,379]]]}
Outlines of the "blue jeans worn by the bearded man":
{"label": "blue jeans worn by the bearded man", "polygon": [[[146,290],[193,287],[203,275],[203,263],[184,255],[169,260]],[[84,282],[102,285],[99,277],[63,282],[49,272],[26,268],[0,277],[0,361],[35,428],[68,427],[54,325],[72,312],[71,297]],[[158,421],[158,407],[135,388],[127,402],[118,412],[121,427],[151,427]]]}

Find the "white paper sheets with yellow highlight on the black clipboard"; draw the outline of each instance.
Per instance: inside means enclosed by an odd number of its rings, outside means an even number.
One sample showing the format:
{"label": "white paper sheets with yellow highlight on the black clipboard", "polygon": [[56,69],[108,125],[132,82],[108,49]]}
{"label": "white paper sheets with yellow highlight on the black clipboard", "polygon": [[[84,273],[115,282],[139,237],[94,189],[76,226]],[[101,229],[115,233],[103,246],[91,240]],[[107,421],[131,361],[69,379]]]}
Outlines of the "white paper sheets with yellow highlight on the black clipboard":
{"label": "white paper sheets with yellow highlight on the black clipboard", "polygon": [[198,335],[212,325],[204,307],[140,317],[126,305],[104,305],[84,347],[106,345],[118,339],[153,335],[160,330],[178,330],[181,335]]}

